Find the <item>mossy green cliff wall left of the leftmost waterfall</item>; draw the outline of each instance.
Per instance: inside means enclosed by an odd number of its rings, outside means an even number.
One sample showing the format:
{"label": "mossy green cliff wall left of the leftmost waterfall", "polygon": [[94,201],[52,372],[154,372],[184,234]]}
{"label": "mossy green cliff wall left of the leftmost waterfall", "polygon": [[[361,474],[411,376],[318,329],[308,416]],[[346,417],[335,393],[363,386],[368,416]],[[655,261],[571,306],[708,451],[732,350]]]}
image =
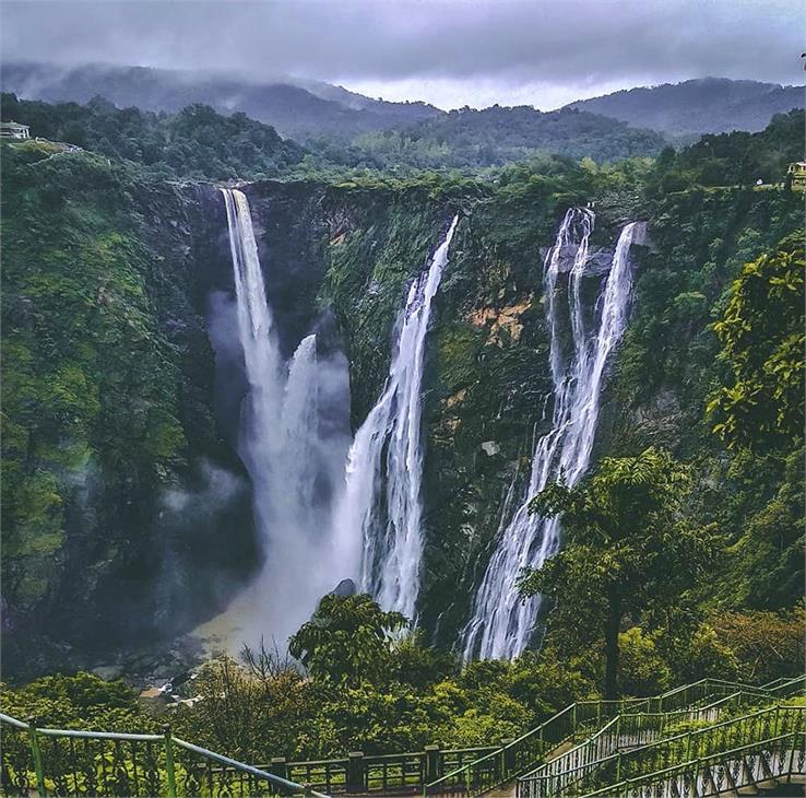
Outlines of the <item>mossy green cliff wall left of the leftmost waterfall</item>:
{"label": "mossy green cliff wall left of the leftmost waterfall", "polygon": [[170,636],[248,578],[220,422],[210,189],[4,153],[3,658],[26,676]]}

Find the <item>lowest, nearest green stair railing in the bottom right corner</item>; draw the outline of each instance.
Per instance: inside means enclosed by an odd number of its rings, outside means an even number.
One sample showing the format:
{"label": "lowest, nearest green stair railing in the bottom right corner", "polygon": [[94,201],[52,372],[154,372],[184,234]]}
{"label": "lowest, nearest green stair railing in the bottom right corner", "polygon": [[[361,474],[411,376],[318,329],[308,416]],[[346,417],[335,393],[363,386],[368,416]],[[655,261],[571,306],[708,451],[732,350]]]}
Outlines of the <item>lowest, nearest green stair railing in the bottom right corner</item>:
{"label": "lowest, nearest green stair railing in the bottom right corner", "polygon": [[625,778],[584,798],[708,798],[749,787],[774,788],[806,775],[803,731],[779,735],[689,760],[662,771]]}

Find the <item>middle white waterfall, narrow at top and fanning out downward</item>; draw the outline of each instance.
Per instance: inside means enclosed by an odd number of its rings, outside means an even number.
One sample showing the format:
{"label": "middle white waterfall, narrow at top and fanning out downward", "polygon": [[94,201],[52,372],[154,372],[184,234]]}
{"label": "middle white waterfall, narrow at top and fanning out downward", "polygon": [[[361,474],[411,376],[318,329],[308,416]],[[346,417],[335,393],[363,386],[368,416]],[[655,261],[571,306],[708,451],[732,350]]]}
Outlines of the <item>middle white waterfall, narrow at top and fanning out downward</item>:
{"label": "middle white waterfall, narrow at top and fanning out downward", "polygon": [[[434,295],[459,216],[412,283],[383,392],[356,433],[339,515],[340,559],[359,574],[359,589],[387,610],[414,618],[423,559],[420,394],[425,338]],[[349,575],[349,574],[345,574]]]}

